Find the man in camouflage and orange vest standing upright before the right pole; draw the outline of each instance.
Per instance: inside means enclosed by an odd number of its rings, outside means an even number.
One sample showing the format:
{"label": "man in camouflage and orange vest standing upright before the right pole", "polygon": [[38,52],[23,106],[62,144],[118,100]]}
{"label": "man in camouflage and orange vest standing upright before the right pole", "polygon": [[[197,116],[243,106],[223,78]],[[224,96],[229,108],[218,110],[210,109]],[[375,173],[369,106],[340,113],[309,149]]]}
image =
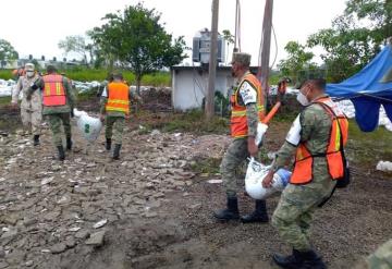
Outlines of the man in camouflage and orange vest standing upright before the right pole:
{"label": "man in camouflage and orange vest standing upright before the right pole", "polygon": [[[226,192],[226,208],[213,213],[218,220],[240,219],[235,170],[249,156],[256,156],[255,143],[257,123],[264,118],[264,91],[259,81],[249,72],[250,56],[235,52],[232,60],[232,74],[240,84],[231,97],[231,134],[234,138],[223,156],[221,174]],[[256,200],[256,209],[241,218],[244,223],[268,222],[265,200]]]}

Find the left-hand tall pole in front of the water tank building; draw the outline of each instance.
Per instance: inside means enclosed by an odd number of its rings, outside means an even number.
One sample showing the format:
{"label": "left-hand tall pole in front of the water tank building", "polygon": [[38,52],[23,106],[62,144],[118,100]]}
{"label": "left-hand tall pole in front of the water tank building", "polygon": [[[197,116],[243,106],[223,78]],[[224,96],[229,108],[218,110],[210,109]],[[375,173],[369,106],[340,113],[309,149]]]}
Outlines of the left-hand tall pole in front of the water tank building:
{"label": "left-hand tall pole in front of the water tank building", "polygon": [[206,107],[205,107],[205,113],[207,120],[212,119],[215,112],[213,96],[215,96],[215,80],[217,75],[218,14],[219,14],[219,0],[212,0],[210,60],[209,60],[209,70],[208,70],[208,90],[207,90]]}

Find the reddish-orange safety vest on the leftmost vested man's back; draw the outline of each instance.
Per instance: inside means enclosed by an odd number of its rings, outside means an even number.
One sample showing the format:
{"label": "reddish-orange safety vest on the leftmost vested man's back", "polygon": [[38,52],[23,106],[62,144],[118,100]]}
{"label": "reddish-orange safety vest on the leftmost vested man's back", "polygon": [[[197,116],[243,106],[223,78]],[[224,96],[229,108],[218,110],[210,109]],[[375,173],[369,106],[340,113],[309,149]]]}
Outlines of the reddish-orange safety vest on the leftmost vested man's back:
{"label": "reddish-orange safety vest on the leftmost vested man's back", "polygon": [[66,94],[63,84],[63,76],[53,74],[45,75],[44,80],[44,106],[57,107],[66,103]]}

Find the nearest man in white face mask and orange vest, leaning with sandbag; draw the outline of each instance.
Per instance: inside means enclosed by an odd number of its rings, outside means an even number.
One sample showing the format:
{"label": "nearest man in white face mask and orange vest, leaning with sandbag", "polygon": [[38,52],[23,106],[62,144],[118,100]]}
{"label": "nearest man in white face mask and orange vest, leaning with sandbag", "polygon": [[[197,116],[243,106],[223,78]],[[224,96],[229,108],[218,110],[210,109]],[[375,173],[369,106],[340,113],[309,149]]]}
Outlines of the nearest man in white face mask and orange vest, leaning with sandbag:
{"label": "nearest man in white face mask and orange vest, leaning with sandbag", "polygon": [[348,121],[324,88],[322,78],[302,85],[297,100],[305,109],[294,121],[262,182],[264,187],[270,187],[273,174],[295,152],[290,184],[272,216],[272,225],[293,248],[292,255],[273,255],[274,262],[282,268],[327,268],[310,245],[310,223],[316,208],[331,196],[336,181],[344,179],[343,146],[347,142]]}

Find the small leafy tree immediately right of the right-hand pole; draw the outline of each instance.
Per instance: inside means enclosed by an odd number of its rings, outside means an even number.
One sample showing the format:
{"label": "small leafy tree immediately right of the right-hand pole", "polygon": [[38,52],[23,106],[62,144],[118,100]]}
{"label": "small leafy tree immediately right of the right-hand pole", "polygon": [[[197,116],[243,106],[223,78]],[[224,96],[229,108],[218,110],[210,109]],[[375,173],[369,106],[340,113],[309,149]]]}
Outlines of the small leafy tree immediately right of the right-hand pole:
{"label": "small leafy tree immediately right of the right-hand pole", "polygon": [[297,41],[289,41],[284,47],[289,57],[285,60],[281,60],[278,64],[283,76],[289,76],[295,83],[299,80],[298,73],[304,70],[315,70],[317,65],[311,61],[314,58],[313,52],[305,51],[306,47]]}

